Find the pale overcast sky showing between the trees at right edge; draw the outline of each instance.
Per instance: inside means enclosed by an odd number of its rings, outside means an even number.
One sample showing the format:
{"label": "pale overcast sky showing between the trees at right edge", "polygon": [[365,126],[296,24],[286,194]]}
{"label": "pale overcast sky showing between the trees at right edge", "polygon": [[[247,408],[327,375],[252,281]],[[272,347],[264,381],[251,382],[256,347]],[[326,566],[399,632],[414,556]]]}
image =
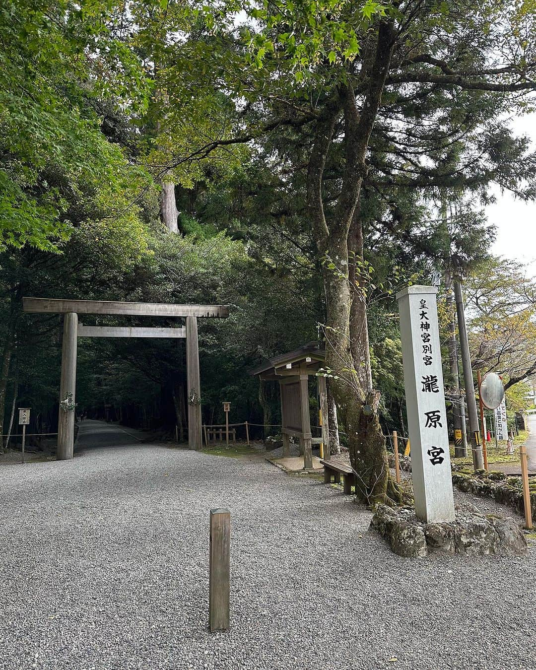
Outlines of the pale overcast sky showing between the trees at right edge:
{"label": "pale overcast sky showing between the trees at right edge", "polygon": [[[529,135],[536,150],[536,114],[515,119],[513,124],[519,135]],[[497,226],[497,239],[492,248],[496,255],[531,263],[536,273],[536,202],[515,200],[509,193],[496,190],[497,202],[486,213],[490,223]]]}

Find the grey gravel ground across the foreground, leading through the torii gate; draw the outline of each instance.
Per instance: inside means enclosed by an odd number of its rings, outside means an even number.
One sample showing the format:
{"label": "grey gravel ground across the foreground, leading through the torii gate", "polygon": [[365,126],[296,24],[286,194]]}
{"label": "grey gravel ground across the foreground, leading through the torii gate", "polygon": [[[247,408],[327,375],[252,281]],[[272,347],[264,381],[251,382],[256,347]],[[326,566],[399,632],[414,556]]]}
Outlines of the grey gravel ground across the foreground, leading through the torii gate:
{"label": "grey gravel ground across the foreground, leading through the torii gate", "polygon": [[[536,668],[535,547],[402,559],[332,486],[132,442],[86,421],[74,460],[0,467],[0,668]],[[212,507],[232,515],[215,634]]]}

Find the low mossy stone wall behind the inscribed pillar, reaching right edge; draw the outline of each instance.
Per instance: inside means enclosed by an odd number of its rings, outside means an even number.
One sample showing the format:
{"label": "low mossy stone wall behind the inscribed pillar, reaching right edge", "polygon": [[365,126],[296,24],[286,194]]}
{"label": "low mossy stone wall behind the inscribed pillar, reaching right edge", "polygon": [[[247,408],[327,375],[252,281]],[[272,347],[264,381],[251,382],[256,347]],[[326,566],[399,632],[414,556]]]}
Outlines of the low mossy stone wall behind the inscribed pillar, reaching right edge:
{"label": "low mossy stone wall behind the inscribed pillar, reaching right edge", "polygon": [[[472,493],[482,498],[493,498],[501,505],[508,505],[517,513],[524,515],[523,484],[521,477],[509,477],[504,472],[492,470],[476,470],[476,472],[460,471],[460,466],[452,466],[452,483],[460,491]],[[536,521],[536,478],[529,479],[531,492],[531,515]]]}

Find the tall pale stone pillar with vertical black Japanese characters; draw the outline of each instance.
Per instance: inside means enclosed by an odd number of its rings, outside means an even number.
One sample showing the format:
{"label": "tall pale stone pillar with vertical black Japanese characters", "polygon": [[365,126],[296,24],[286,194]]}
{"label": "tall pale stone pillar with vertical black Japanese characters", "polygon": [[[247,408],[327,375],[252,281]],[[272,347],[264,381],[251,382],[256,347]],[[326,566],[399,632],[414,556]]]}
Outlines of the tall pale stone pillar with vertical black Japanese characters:
{"label": "tall pale stone pillar with vertical black Japanese characters", "polygon": [[415,512],[425,523],[454,521],[437,292],[397,293]]}

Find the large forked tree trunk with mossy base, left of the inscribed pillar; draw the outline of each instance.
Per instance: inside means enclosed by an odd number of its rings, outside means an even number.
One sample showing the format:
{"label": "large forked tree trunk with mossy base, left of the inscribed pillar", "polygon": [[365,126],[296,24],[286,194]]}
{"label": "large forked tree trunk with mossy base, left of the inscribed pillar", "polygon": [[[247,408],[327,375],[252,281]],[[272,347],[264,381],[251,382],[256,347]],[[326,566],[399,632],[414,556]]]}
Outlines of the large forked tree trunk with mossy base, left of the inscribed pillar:
{"label": "large forked tree trunk with mossy base, left of the inscribed pillar", "polygon": [[[356,491],[360,500],[369,505],[385,501],[389,468],[385,438],[377,413],[379,394],[372,389],[365,299],[352,306],[354,295],[348,274],[348,235],[352,222],[358,226],[354,235],[362,235],[356,207],[366,174],[366,151],[389,72],[394,42],[392,19],[382,21],[377,34],[375,58],[370,68],[367,66],[366,72],[363,72],[369,82],[364,102],[358,110],[353,86],[341,84],[338,97],[330,100],[324,117],[317,123],[307,180],[308,210],[318,251],[324,262],[326,368],[338,413],[348,434],[350,461],[357,479]],[[334,127],[341,112],[344,115],[346,164],[340,196],[328,226],[322,202],[322,177]],[[350,244],[355,246],[356,242],[350,241]],[[360,250],[362,257],[362,242]],[[352,326],[350,332],[350,312],[353,309],[356,310],[354,325],[357,326]],[[391,497],[392,490],[393,486],[390,487]]]}

